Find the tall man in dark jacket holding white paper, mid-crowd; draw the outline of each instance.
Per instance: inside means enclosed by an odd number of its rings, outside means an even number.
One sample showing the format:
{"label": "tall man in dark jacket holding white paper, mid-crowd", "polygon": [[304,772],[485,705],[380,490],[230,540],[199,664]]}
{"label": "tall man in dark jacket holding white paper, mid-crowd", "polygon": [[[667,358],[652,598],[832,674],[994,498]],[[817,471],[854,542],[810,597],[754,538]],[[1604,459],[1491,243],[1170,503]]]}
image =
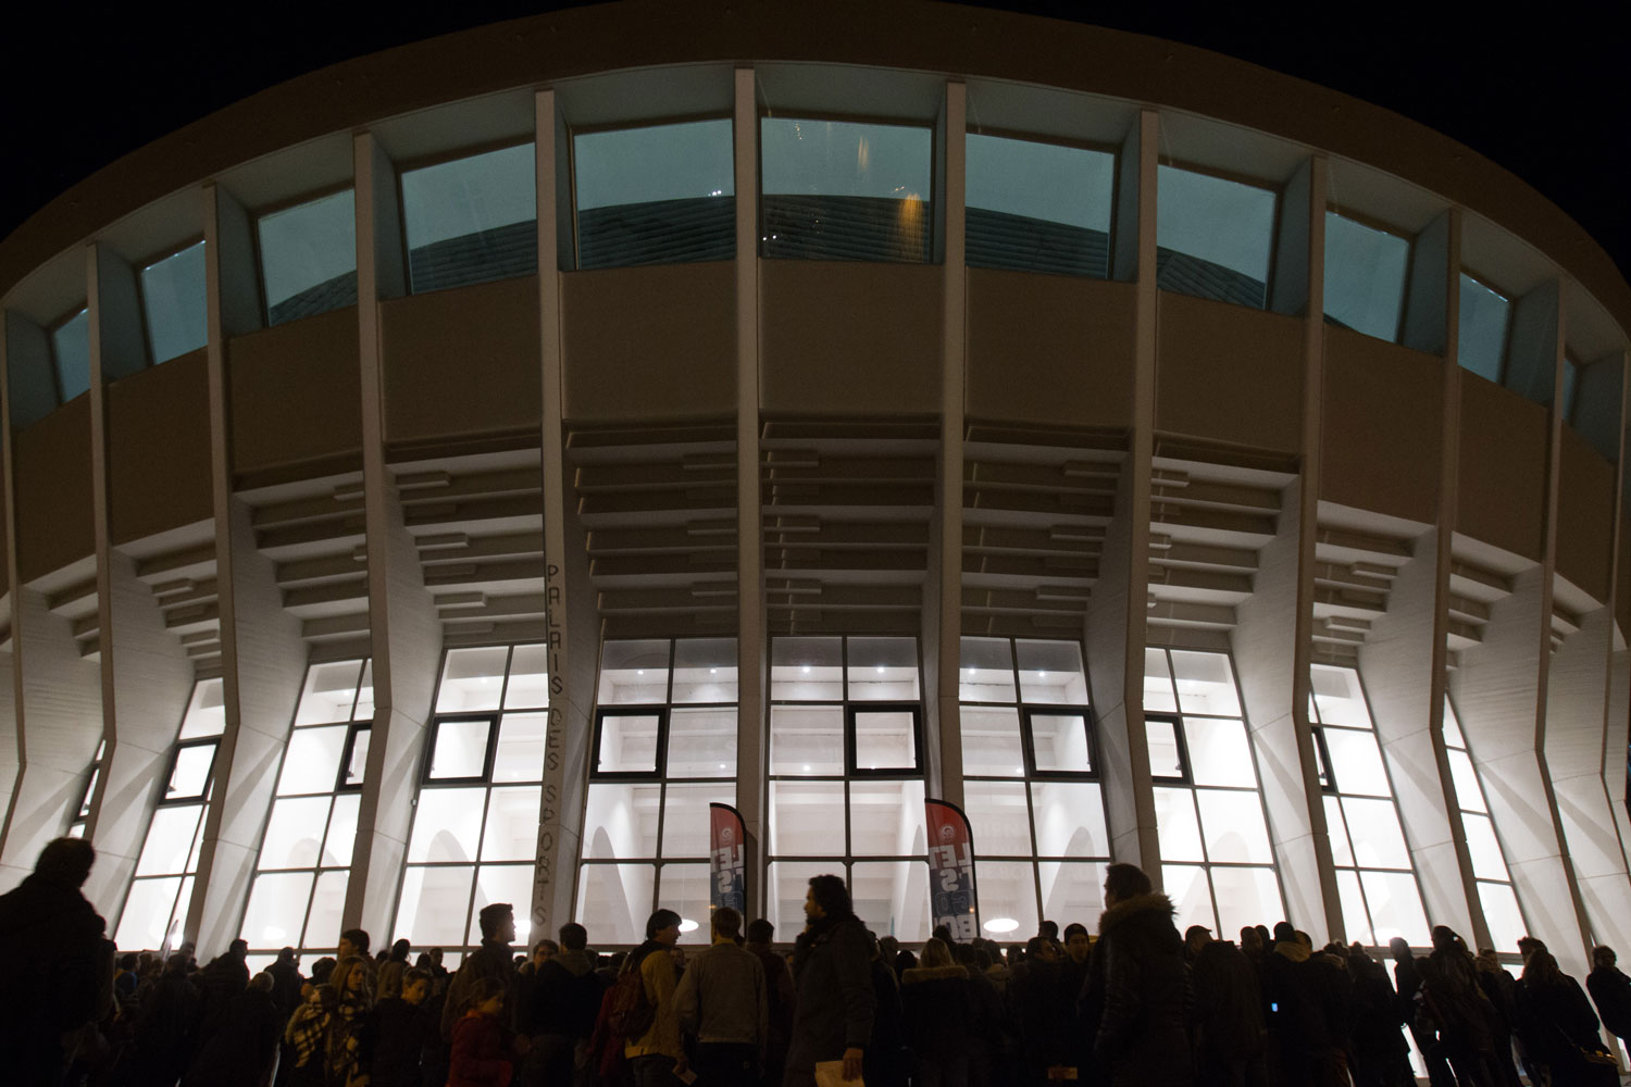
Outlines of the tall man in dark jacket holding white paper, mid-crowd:
{"label": "tall man in dark jacket holding white paper, mid-crowd", "polygon": [[871,940],[838,875],[814,875],[804,898],[807,924],[793,952],[793,1041],[788,1087],[816,1082],[817,1061],[843,1061],[843,1079],[860,1079],[873,1036]]}

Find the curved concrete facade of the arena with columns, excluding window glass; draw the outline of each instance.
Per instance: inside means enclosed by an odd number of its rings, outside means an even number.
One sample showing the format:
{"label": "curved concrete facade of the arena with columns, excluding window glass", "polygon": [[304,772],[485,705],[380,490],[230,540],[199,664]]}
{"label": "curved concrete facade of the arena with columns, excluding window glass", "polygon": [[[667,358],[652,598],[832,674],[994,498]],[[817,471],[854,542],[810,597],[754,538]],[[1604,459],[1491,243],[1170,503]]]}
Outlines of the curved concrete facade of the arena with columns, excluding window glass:
{"label": "curved concrete facade of the arena with columns, excluding window glass", "polygon": [[[1333,847],[1311,675],[1357,675],[1409,854],[1391,867],[1429,922],[1504,942],[1499,883],[1574,971],[1631,944],[1631,292],[1602,249],[1476,153],[1251,65],[993,11],[824,11],[610,5],[365,57],[0,243],[5,878],[99,759],[90,890],[117,918],[194,683],[219,678],[178,919],[225,945],[302,676],[367,657],[333,909],[382,939],[445,650],[543,644],[541,932],[574,909],[603,642],[736,639],[732,799],[763,859],[771,639],[915,637],[920,776],[957,803],[962,640],[1045,639],[1085,654],[1104,856],[1174,864],[1147,647],[1228,654],[1285,914],[1354,937],[1364,865]],[[926,261],[762,248],[760,121],[785,116],[933,134]],[[695,117],[732,121],[734,257],[582,267],[574,134]],[[970,262],[959,132],[1114,155],[1104,274]],[[401,174],[528,142],[537,272],[413,292]],[[1261,306],[1160,279],[1168,166],[1274,194]],[[259,217],[347,186],[362,305],[269,323]],[[1391,341],[1319,319],[1328,212],[1409,241]],[[150,365],[140,269],[201,238],[202,345]],[[1510,305],[1499,381],[1456,365],[1463,271]],[[54,336],[82,305],[88,391],[59,403]],[[1468,830],[1484,813],[1504,877]]]}

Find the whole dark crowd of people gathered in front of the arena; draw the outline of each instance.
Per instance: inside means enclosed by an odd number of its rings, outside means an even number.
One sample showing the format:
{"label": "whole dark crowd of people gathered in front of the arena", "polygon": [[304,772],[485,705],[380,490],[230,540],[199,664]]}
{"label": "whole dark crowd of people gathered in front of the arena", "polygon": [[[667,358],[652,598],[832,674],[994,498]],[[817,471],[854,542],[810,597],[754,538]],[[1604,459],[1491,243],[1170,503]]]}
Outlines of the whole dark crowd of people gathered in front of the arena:
{"label": "whole dark crowd of people gathered in front of the arena", "polygon": [[[442,965],[408,940],[370,953],[341,934],[310,973],[294,948],[251,973],[235,940],[199,965],[119,953],[80,893],[95,852],[52,841],[0,896],[20,970],[0,986],[7,1082],[26,1087],[1403,1087],[1408,1036],[1432,1087],[1618,1084],[1600,1030],[1631,1035],[1631,978],[1600,947],[1587,992],[1535,939],[1514,978],[1445,927],[1432,952],[1393,940],[1316,948],[1288,922],[1240,940],[1179,935],[1171,901],[1112,864],[1096,934],[1054,922],[1023,947],[918,950],[855,916],[838,875],[809,880],[791,953],[736,909],[706,950],[656,911],[628,952],[581,924],[517,957],[509,904],[481,947]],[[1595,1006],[1595,1007],[1593,1007]]]}

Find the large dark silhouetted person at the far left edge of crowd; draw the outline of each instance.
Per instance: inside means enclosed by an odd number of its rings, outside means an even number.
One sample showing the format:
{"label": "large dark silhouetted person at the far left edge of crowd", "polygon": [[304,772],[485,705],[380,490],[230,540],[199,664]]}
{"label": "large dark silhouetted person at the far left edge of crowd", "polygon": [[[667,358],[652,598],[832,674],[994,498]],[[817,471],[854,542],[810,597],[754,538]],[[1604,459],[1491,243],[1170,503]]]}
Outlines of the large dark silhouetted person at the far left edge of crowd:
{"label": "large dark silhouetted person at the far left edge of crowd", "polygon": [[55,1082],[62,1035],[96,1017],[106,922],[85,901],[96,851],[78,838],[57,838],[39,851],[34,872],[0,895],[0,1053],[7,1079]]}

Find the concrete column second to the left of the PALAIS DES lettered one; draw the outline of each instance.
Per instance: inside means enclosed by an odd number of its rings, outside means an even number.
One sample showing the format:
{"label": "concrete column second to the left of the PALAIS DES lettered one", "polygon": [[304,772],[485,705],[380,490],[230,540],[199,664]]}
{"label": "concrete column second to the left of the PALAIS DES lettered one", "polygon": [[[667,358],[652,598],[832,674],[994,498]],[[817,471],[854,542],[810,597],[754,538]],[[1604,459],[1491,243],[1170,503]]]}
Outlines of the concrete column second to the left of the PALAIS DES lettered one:
{"label": "concrete column second to the left of the PALAIS DES lettered one", "polygon": [[227,339],[261,323],[251,223],[220,186],[204,186],[202,199],[210,487],[227,725],[215,756],[219,786],[204,815],[199,890],[184,929],[209,950],[238,935],[300,698],[307,647],[300,621],[282,606],[272,562],[256,546],[250,508],[233,495]]}

